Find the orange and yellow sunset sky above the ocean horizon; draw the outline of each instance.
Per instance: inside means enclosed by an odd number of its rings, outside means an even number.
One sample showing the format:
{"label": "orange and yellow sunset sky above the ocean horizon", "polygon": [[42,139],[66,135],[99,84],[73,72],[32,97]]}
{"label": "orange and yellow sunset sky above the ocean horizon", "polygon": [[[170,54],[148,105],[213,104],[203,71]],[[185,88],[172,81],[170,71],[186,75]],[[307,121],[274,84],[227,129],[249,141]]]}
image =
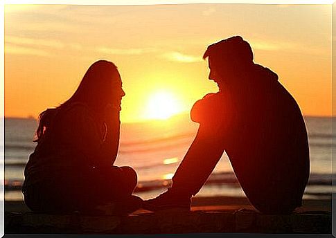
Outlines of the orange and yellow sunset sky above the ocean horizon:
{"label": "orange and yellow sunset sky above the ocean horizon", "polygon": [[306,115],[331,115],[331,6],[5,6],[5,116],[37,116],[76,90],[104,58],[118,66],[121,120],[148,117],[158,92],[177,111],[217,90],[206,46],[241,35]]}

